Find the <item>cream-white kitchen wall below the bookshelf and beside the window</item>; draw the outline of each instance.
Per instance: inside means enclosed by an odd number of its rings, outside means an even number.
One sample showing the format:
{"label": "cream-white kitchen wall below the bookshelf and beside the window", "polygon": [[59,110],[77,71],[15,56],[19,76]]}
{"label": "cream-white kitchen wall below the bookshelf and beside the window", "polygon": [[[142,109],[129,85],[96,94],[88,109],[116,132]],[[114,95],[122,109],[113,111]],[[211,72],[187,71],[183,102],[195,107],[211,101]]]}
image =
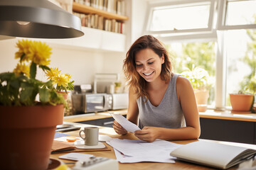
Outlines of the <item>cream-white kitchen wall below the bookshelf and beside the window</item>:
{"label": "cream-white kitchen wall below the bookshelf and beside the window", "polygon": [[[125,34],[128,50],[134,40],[142,35],[146,17],[147,1],[127,0],[127,16]],[[112,40],[110,40],[112,41]],[[0,72],[12,71],[18,60],[14,59],[17,39],[1,40],[0,38]],[[58,67],[62,73],[72,76],[75,84],[92,84],[95,73],[119,73],[122,81],[124,76],[122,64],[126,52],[109,52],[88,50],[81,47],[68,47],[47,43],[52,47],[50,67]],[[42,72],[37,79],[46,80]]]}

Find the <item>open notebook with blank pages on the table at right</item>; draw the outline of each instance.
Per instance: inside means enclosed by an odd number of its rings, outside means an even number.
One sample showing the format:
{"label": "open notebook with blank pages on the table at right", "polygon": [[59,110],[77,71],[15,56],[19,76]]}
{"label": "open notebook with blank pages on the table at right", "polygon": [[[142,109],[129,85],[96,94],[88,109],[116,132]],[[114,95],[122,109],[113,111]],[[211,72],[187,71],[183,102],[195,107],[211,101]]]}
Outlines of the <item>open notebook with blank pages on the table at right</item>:
{"label": "open notebook with blank pages on the table at right", "polygon": [[208,141],[192,142],[171,152],[171,156],[177,159],[218,169],[228,169],[255,154],[255,149]]}

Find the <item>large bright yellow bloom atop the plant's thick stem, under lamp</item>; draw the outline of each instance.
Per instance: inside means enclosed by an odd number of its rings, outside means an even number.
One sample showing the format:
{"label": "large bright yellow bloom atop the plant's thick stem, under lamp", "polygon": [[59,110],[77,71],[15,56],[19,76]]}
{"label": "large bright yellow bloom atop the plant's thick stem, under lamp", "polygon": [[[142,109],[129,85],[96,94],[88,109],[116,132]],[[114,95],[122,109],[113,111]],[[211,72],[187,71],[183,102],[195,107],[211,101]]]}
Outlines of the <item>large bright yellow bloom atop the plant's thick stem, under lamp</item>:
{"label": "large bright yellow bloom atop the plant's thick stem, under lamp", "polygon": [[50,64],[51,48],[45,42],[34,41],[29,49],[28,57],[38,65]]}

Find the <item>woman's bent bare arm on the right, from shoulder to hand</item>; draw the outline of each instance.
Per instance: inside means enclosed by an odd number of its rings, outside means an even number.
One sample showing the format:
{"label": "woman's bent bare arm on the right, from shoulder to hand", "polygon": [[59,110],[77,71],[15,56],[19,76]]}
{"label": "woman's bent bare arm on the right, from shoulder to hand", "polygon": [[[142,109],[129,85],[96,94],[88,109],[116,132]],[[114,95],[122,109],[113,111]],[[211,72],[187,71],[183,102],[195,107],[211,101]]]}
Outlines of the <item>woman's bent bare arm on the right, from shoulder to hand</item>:
{"label": "woman's bent bare arm on the right, from shoulder to hand", "polygon": [[176,93],[178,101],[181,103],[181,108],[186,120],[186,127],[170,129],[144,127],[143,130],[138,130],[135,135],[141,140],[153,142],[156,139],[162,140],[192,140],[198,139],[200,136],[200,122],[198,109],[196,106],[196,98],[193,88],[188,79],[178,77],[176,81]]}

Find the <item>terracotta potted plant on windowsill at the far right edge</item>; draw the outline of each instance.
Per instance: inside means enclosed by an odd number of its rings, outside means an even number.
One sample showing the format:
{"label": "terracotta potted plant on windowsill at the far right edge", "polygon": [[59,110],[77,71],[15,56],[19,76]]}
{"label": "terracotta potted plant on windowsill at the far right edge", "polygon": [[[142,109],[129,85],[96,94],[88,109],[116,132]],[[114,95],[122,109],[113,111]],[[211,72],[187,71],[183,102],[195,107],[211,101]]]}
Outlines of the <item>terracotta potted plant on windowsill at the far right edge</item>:
{"label": "terracotta potted plant on windowsill at the far right edge", "polygon": [[252,77],[238,94],[230,94],[231,113],[251,113],[251,111],[255,113],[255,108],[253,107],[255,94],[256,76]]}

